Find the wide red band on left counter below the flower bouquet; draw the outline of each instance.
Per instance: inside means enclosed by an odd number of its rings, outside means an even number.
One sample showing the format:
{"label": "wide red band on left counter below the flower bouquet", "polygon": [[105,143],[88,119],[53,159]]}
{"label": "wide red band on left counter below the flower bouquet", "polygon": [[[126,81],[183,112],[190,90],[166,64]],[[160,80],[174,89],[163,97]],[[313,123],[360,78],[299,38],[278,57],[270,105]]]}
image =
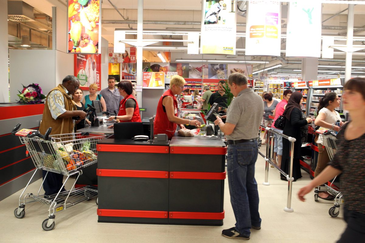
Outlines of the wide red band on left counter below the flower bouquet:
{"label": "wide red band on left counter below the flower bouquet", "polygon": [[27,117],[31,115],[42,115],[44,107],[45,104],[1,107],[0,120],[24,117],[24,115]]}

